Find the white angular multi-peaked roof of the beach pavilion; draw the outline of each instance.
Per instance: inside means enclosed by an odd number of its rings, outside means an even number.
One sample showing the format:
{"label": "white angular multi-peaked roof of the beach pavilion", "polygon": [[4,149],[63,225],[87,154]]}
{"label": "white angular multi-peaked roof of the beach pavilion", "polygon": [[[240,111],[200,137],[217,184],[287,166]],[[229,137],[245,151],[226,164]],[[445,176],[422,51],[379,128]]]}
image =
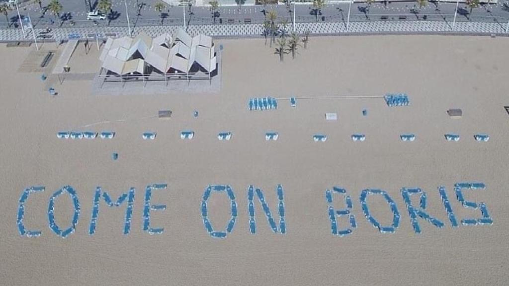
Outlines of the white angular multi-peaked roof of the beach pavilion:
{"label": "white angular multi-peaked roof of the beach pavilion", "polygon": [[207,73],[216,69],[212,38],[191,37],[182,28],[175,40],[168,33],[151,38],[143,32],[135,38],[108,38],[99,60],[102,68],[119,75],[145,74],[148,65],[164,74],[189,73],[195,65]]}

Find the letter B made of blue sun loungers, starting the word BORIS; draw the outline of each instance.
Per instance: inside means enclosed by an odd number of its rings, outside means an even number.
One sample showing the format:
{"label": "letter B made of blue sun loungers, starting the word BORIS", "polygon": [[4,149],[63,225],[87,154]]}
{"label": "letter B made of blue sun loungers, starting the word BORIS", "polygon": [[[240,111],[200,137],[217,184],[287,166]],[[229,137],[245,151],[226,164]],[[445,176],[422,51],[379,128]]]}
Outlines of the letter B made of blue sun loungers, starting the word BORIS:
{"label": "letter B made of blue sun loungers, starting the word BORIS", "polygon": [[[335,210],[332,206],[332,194],[338,193],[342,194],[345,197],[345,204],[347,205],[346,209],[343,210]],[[346,190],[338,187],[333,187],[332,192],[330,190],[325,191],[325,199],[327,201],[328,205],[328,211],[329,211],[329,219],[330,219],[330,228],[333,235],[338,235],[340,237],[347,236],[353,232],[353,229],[357,227],[357,223],[355,222],[355,216],[352,214],[352,198],[346,194]],[[345,228],[344,230],[338,230],[338,222],[336,217],[342,217],[342,216],[348,216],[348,221],[350,224],[350,227],[352,228]]]}

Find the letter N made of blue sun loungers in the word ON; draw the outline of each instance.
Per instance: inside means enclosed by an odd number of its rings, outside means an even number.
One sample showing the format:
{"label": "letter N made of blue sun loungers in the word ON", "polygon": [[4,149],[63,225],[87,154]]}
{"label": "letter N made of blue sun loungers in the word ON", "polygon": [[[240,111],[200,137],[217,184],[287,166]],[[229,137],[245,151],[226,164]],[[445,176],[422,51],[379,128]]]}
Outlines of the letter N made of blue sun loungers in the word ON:
{"label": "letter N made of blue sun loungers in the word ON", "polygon": [[249,214],[249,232],[251,234],[256,234],[256,219],[254,218],[254,194],[258,196],[258,200],[260,201],[260,204],[262,205],[263,211],[265,213],[265,217],[267,218],[267,221],[270,225],[270,228],[272,229],[272,232],[274,233],[281,233],[286,234],[286,220],[285,220],[285,201],[284,201],[284,194],[283,194],[283,188],[281,185],[277,185],[276,187],[276,193],[277,193],[277,200],[278,202],[278,214],[279,214],[279,230],[277,230],[276,222],[274,221],[274,218],[272,217],[272,214],[270,212],[269,206],[267,205],[267,202],[265,202],[265,197],[263,194],[263,191],[259,188],[254,188],[254,186],[250,185],[247,188],[247,209]]}

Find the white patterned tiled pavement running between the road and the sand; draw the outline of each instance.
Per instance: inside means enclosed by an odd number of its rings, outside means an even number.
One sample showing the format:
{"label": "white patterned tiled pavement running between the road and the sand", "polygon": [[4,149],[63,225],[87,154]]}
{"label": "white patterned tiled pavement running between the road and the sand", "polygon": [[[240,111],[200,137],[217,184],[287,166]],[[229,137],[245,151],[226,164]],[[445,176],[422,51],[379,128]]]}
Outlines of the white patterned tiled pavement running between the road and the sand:
{"label": "white patterned tiled pavement running between the road and the sand", "polygon": [[[506,23],[489,22],[457,22],[453,32],[452,23],[445,21],[364,21],[350,22],[349,33],[458,33],[458,34],[505,34]],[[133,36],[140,31],[156,36],[163,32],[174,34],[178,26],[139,26],[133,29]],[[289,30],[291,31],[291,26]],[[346,24],[344,22],[316,22],[297,23],[297,33],[310,34],[345,34]],[[228,24],[228,25],[191,25],[187,31],[191,35],[205,34],[215,37],[259,37],[262,36],[261,24]],[[44,29],[36,28],[35,34],[39,35]],[[72,35],[75,38],[94,38],[95,33],[102,37],[121,37],[129,34],[127,27],[66,27],[54,28],[48,35],[47,40],[61,41],[69,39]],[[101,37],[99,36],[99,37]],[[32,33],[29,31],[27,37],[19,28],[0,30],[0,41],[31,41]],[[38,38],[40,40],[40,38]]]}

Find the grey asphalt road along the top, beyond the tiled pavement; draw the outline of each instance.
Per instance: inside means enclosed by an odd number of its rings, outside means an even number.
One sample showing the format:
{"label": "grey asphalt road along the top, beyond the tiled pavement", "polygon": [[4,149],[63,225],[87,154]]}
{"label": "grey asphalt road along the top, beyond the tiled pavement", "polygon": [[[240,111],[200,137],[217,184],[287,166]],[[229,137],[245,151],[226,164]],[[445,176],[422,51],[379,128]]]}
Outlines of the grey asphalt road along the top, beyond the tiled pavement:
{"label": "grey asphalt road along the top, beyond the tiled pavement", "polygon": [[[159,0],[128,0],[127,8],[129,11],[130,24],[133,25],[160,25],[163,24],[182,24],[183,10],[188,24],[210,24],[213,23],[212,13],[207,7],[170,7],[162,13],[154,10],[154,4]],[[94,25],[111,25],[126,26],[127,17],[125,13],[124,1],[112,0],[112,10],[108,18],[109,20],[88,21],[88,7],[84,0],[68,0],[61,1],[63,5],[63,13],[61,20],[49,11],[45,6],[49,0],[43,0],[42,9],[36,3],[25,3],[20,6],[19,12],[21,17],[27,17],[30,14],[32,22],[36,27],[58,27],[58,26],[94,26]],[[93,4],[95,5],[95,4]],[[287,17],[291,22],[293,17],[294,6],[290,6],[290,10],[286,5],[267,6],[267,10],[276,10],[278,16]],[[346,21],[348,18],[349,4],[333,4],[327,5],[318,15],[319,21]],[[456,3],[429,3],[427,7],[415,10],[414,2],[397,2],[397,3],[375,3],[367,9],[365,3],[355,3],[351,5],[350,20],[351,21],[368,21],[380,19],[406,19],[406,20],[444,20],[452,21],[456,9]],[[313,14],[310,5],[296,6],[296,21],[310,22],[315,21],[317,17]],[[161,15],[162,18],[161,19]],[[6,18],[0,18],[0,27],[17,27],[18,16],[16,10],[8,15],[10,23]],[[263,6],[238,6],[238,7],[220,7],[218,17],[215,19],[216,24],[226,24],[231,21],[244,22],[250,21],[263,22],[264,13]],[[509,21],[509,7],[506,2],[499,1],[498,4],[483,5],[470,9],[465,4],[460,4],[458,9],[458,21],[485,21],[507,23]]]}

